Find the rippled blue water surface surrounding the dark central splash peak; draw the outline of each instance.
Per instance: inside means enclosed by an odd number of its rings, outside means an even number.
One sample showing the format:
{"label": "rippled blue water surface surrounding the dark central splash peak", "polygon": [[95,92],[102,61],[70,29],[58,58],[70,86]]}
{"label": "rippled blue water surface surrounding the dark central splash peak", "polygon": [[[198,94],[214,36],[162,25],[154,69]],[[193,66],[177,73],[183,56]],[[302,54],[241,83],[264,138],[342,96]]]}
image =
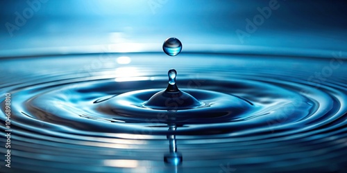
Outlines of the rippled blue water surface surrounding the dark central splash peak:
{"label": "rippled blue water surface surrounding the dark central splash peak", "polygon": [[[13,170],[344,171],[343,59],[332,68],[333,57],[191,53],[160,62],[157,53],[128,53],[131,64],[117,64],[119,56],[124,55],[1,60],[6,71],[26,64],[1,79],[2,93],[12,99]],[[180,62],[175,66],[180,90],[203,106],[176,111],[143,106],[166,88],[171,61]],[[168,130],[169,124],[177,129]],[[182,165],[164,164],[167,135],[175,136]]]}

